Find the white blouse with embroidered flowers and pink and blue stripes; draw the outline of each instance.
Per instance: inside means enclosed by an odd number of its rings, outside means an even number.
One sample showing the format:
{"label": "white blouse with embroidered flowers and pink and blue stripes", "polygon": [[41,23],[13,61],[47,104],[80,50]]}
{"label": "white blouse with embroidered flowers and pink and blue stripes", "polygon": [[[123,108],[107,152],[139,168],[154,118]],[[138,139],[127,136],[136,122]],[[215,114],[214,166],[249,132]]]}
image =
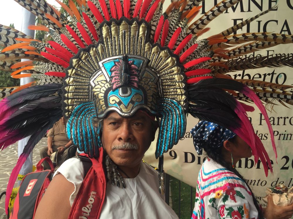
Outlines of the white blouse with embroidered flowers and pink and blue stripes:
{"label": "white blouse with embroidered flowers and pink and blue stripes", "polygon": [[206,160],[200,169],[192,219],[258,218],[252,193],[233,172]]}

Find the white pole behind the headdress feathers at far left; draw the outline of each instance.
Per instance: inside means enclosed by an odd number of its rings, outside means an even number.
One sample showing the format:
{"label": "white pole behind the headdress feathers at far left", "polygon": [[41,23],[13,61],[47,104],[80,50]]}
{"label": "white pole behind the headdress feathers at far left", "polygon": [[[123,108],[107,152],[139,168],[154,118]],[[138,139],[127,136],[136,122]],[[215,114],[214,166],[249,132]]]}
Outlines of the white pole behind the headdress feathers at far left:
{"label": "white pole behind the headdress feathers at far left", "polygon": [[[28,25],[35,25],[35,15],[30,13],[28,10],[26,10],[25,8],[22,8],[22,26],[21,26],[21,32],[23,32],[24,34],[28,35],[28,36],[35,36],[35,31],[34,30],[30,30],[28,29]],[[22,59],[22,62],[24,61],[28,61],[27,59]],[[24,74],[24,73],[21,73]],[[21,78],[20,79],[20,85],[24,85],[27,84],[31,81],[33,81],[33,78],[30,77],[25,77],[25,78]],[[18,141],[18,157],[21,155],[21,153],[23,152],[23,148],[26,145],[26,143],[28,142],[30,136],[23,138],[21,140]],[[33,152],[30,153],[30,155],[28,156],[28,159],[25,161],[25,163],[23,164],[19,174],[20,175],[26,175],[28,173],[30,173],[33,169]],[[21,181],[18,181],[18,185],[20,185]]]}

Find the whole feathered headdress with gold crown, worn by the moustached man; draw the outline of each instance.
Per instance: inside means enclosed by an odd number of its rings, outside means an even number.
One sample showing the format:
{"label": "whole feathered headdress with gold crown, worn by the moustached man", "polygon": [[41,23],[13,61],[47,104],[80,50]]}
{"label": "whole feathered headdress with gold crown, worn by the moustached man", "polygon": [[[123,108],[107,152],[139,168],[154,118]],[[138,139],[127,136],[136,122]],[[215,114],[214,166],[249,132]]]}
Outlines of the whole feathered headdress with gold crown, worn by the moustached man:
{"label": "whole feathered headdress with gold crown, worn by the moustached man", "polygon": [[[173,1],[164,13],[163,0],[76,0],[78,6],[72,0],[69,6],[58,1],[69,17],[44,0],[17,1],[46,25],[29,28],[46,31],[53,40],[40,42],[0,26],[0,45],[6,47],[0,54],[1,69],[14,69],[14,78],[35,78],[30,84],[1,91],[2,98],[8,96],[0,102],[1,149],[32,135],[9,179],[8,199],[20,167],[62,111],[67,118],[68,137],[90,157],[98,157],[101,145],[93,118],[102,119],[111,110],[129,117],[145,109],[159,121],[156,157],[162,157],[183,137],[189,113],[243,138],[268,174],[268,154],[246,115],[253,107],[238,100],[254,102],[263,113],[276,153],[263,102],[275,99],[292,104],[292,92],[286,91],[292,86],[233,80],[225,74],[292,66],[292,58],[239,57],[292,43],[293,36],[232,34],[271,8],[217,35],[197,40],[208,30],[210,21],[241,0],[223,0],[191,23],[201,1]],[[21,58],[31,61],[19,62]],[[271,167],[270,162],[268,165]]]}

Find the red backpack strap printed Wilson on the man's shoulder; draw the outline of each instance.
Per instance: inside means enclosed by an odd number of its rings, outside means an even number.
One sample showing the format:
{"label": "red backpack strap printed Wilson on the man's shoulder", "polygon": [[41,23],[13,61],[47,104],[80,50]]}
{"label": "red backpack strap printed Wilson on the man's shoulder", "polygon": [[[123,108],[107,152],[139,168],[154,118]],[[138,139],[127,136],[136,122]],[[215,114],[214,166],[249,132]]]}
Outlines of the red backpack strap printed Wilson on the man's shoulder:
{"label": "red backpack strap printed Wilson on the man's shoulder", "polygon": [[106,178],[103,169],[103,148],[98,159],[90,158],[89,169],[79,192],[74,199],[68,219],[97,219],[100,217],[106,193]]}

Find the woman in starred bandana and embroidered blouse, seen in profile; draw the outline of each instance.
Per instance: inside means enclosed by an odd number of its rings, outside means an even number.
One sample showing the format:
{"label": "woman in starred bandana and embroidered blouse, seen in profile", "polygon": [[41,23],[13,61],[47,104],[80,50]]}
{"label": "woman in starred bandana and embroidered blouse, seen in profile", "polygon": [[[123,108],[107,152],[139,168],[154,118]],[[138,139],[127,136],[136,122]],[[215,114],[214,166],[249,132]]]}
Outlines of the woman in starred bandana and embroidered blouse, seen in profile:
{"label": "woman in starred bandana and embroidered blouse, seen in profile", "polygon": [[191,131],[197,154],[202,149],[207,159],[202,164],[192,219],[201,218],[291,218],[293,204],[279,207],[268,198],[262,210],[258,201],[235,169],[241,158],[252,156],[251,147],[234,132],[212,122],[201,121]]}

